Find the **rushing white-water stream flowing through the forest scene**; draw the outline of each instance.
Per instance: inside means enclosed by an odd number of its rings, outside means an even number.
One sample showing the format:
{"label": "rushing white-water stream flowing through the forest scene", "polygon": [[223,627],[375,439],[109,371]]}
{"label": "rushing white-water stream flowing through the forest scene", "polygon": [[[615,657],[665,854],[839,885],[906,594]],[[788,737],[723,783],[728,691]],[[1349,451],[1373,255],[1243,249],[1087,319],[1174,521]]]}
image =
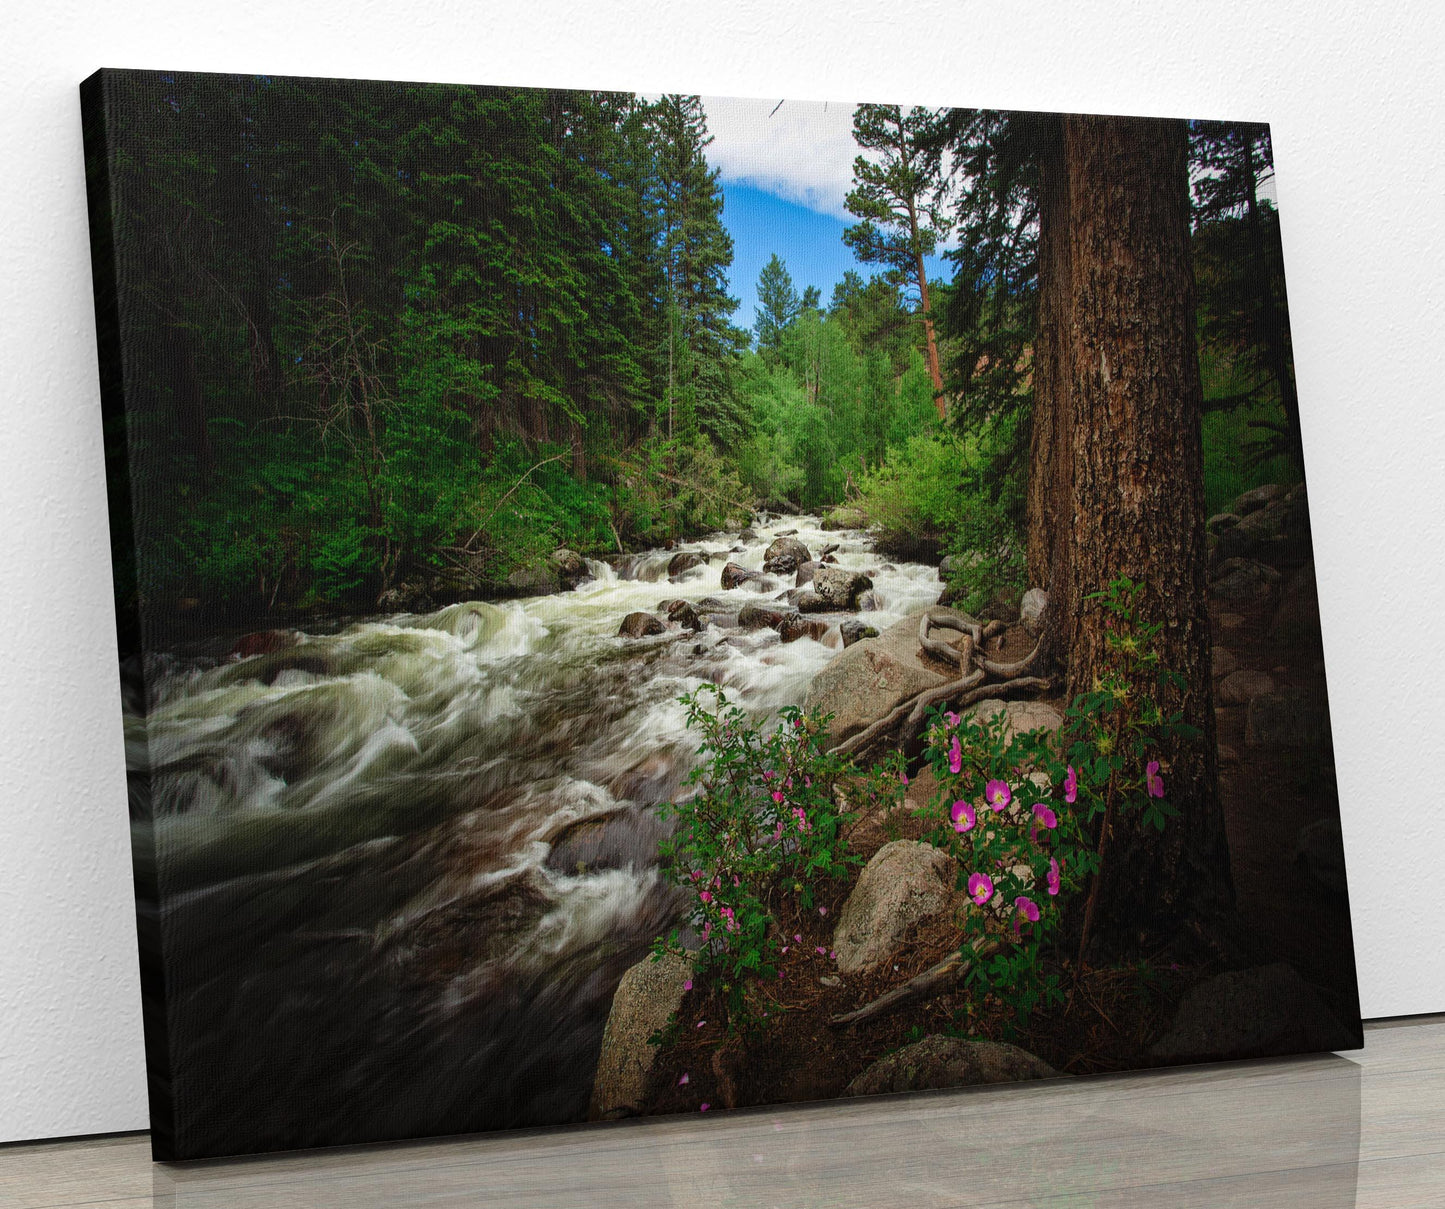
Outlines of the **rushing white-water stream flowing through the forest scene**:
{"label": "rushing white-water stream flowing through the forest scene", "polygon": [[[173,660],[127,715],[152,770],[181,1148],[306,1145],[578,1119],[617,979],[678,910],[653,806],[704,682],[764,716],[838,650],[772,630],[627,640],[722,591],[780,530],[874,578],[883,628],[939,591],[858,533],[785,517],[620,560],[572,592],[397,614],[224,663]],[[730,553],[731,552],[731,553]],[[137,851],[150,849],[136,823]]]}

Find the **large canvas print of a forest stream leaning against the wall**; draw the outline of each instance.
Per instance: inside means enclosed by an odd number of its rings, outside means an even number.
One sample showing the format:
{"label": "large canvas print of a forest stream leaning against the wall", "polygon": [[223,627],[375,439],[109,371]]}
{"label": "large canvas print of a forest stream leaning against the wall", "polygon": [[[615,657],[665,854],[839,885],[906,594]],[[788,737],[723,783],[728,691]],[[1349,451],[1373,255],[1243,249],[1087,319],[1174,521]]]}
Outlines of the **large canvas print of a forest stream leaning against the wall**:
{"label": "large canvas print of a forest stream leaning against the wall", "polygon": [[82,101],[159,1158],[1361,1044],[1267,126]]}

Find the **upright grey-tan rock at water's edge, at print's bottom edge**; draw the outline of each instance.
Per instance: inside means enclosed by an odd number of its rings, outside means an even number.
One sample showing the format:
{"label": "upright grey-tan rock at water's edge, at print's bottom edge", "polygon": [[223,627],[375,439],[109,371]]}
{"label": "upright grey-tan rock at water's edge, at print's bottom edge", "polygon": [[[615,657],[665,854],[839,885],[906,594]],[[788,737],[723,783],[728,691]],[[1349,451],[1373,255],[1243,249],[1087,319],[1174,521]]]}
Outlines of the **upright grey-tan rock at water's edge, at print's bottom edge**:
{"label": "upright grey-tan rock at water's edge, at print's bottom edge", "polygon": [[647,1039],[682,1005],[683,984],[691,978],[692,962],[676,953],[666,953],[659,961],[646,958],[623,975],[603,1030],[588,1121],[642,1112],[647,1076],[660,1052],[647,1044]]}

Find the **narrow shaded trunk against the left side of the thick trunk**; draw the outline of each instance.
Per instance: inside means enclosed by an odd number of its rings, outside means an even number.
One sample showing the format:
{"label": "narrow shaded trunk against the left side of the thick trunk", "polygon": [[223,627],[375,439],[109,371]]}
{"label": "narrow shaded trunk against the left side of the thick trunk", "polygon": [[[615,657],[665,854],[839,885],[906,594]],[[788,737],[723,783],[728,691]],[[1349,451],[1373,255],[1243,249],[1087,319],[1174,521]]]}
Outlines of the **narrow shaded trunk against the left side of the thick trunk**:
{"label": "narrow shaded trunk against the left side of the thick trunk", "polygon": [[1074,527],[1074,406],[1069,370],[1069,178],[1064,124],[1039,152],[1039,324],[1033,341],[1033,422],[1029,449],[1029,582],[1049,592],[1049,666],[1068,660],[1069,549]]}

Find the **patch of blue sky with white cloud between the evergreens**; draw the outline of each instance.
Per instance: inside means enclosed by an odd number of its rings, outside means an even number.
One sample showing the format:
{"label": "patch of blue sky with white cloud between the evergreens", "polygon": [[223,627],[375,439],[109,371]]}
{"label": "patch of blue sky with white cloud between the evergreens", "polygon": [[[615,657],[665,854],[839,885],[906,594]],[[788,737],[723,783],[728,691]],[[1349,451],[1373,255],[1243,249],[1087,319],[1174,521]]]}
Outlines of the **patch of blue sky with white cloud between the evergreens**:
{"label": "patch of blue sky with white cloud between the evergreens", "polygon": [[[844,230],[857,222],[844,207],[858,152],[851,104],[733,97],[702,104],[714,139],[708,162],[720,172],[722,222],[733,235],[728,292],[738,299],[737,326],[753,326],[757,274],[773,253],[799,293],[818,286],[824,306],[844,272],[876,272],[854,261],[842,243]],[[929,270],[951,276],[939,259]]]}

